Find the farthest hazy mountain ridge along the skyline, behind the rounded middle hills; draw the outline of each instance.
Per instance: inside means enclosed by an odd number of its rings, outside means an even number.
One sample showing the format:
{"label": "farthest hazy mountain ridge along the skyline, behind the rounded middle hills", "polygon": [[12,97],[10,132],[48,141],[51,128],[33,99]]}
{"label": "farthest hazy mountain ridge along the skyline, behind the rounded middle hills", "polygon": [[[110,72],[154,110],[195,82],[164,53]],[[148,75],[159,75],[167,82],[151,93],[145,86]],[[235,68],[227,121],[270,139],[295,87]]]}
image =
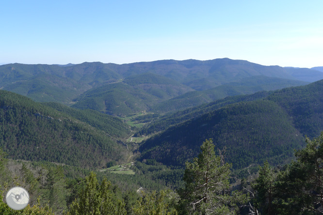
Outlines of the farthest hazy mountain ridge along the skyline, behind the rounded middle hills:
{"label": "farthest hazy mountain ridge along the skyline, behind the rounded middle hills", "polygon": [[26,95],[35,101],[73,104],[82,93],[102,84],[151,73],[172,79],[196,91],[241,81],[253,76],[277,77],[313,82],[323,79],[319,71],[306,68],[262,66],[242,60],[161,60],[114,64],[5,64],[0,65],[0,89]]}

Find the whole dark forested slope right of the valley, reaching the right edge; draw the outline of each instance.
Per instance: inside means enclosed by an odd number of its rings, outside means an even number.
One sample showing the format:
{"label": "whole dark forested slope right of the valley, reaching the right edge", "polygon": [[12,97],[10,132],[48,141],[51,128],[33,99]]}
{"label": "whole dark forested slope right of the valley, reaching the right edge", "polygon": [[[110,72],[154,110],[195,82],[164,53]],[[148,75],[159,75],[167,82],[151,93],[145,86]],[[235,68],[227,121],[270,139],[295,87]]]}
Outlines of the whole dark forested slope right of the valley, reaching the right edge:
{"label": "whole dark forested slope right of the valley, reaching the right edge", "polygon": [[323,130],[322,89],[323,80],[213,110],[147,139],[141,158],[183,165],[198,154],[201,141],[213,138],[218,148],[226,146],[227,161],[236,169],[281,162],[302,146],[304,135]]}

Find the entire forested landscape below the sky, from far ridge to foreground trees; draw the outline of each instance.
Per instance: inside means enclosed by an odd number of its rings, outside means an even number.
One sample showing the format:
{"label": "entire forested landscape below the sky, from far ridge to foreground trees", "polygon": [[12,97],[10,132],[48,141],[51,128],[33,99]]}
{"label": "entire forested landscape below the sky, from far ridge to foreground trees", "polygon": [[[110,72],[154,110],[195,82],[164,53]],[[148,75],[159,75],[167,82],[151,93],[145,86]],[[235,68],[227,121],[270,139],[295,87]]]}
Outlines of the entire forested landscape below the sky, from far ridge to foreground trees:
{"label": "entire forested landscape below the sky, from far ridge to foreground trees", "polygon": [[31,196],[0,214],[322,214],[322,78],[230,59],[0,66],[0,195]]}

